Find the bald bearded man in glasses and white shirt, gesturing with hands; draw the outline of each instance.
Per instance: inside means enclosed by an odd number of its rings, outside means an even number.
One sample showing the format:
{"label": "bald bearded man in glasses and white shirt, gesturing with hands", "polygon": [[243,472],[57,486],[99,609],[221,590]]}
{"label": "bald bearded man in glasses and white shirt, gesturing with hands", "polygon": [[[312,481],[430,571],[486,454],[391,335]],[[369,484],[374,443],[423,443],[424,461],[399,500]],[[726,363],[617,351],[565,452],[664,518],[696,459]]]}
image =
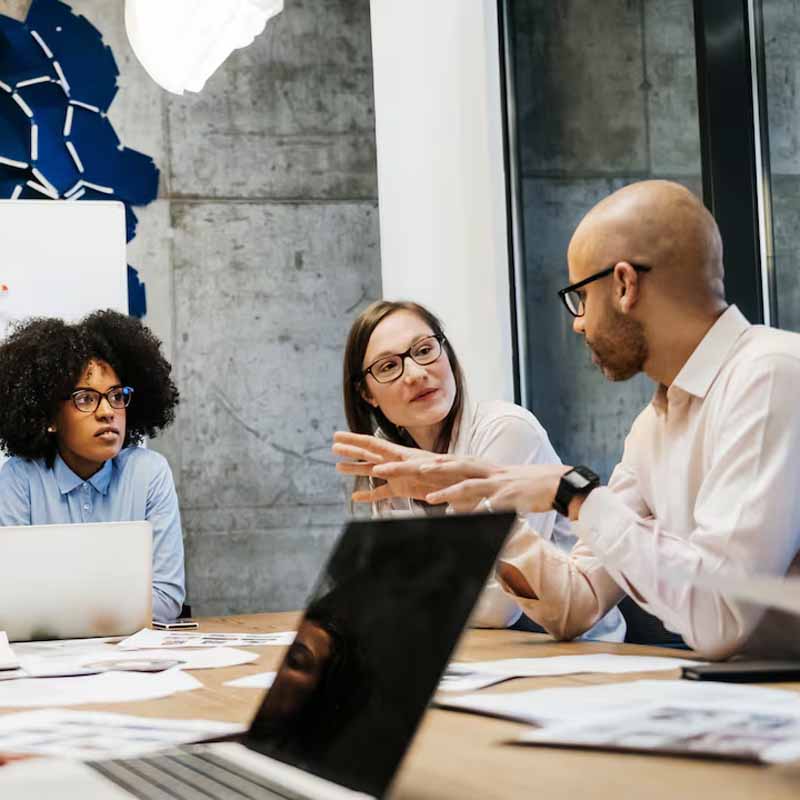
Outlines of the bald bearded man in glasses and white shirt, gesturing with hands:
{"label": "bald bearded man in glasses and white shirt, gesturing with hands", "polygon": [[797,619],[690,582],[800,573],[800,336],[750,325],[726,304],[717,225],[675,183],[632,184],[599,203],[568,265],[559,295],[592,360],[609,380],[644,372],[657,387],[609,485],[583,466],[431,461],[337,435],[351,448],[341,454],[388,481],[362,494],[568,515],[579,535],[571,554],[528,531],[498,565],[505,589],[557,638],[587,630],[627,593],[707,658],[800,654]]}

